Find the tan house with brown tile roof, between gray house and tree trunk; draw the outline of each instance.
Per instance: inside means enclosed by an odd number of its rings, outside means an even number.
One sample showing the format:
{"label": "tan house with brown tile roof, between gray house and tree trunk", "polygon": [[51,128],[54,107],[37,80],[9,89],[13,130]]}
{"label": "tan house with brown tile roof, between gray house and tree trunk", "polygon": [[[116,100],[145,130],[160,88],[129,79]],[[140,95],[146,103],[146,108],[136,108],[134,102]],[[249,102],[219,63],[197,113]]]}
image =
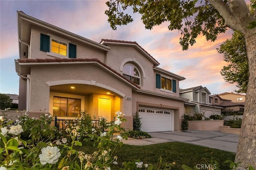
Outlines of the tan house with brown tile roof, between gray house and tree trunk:
{"label": "tan house with brown tile roof, between gray house and tree trunk", "polygon": [[244,111],[244,102],[231,102],[231,100],[223,99],[218,94],[212,96],[214,105],[222,106],[224,111]]}

